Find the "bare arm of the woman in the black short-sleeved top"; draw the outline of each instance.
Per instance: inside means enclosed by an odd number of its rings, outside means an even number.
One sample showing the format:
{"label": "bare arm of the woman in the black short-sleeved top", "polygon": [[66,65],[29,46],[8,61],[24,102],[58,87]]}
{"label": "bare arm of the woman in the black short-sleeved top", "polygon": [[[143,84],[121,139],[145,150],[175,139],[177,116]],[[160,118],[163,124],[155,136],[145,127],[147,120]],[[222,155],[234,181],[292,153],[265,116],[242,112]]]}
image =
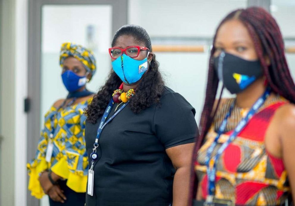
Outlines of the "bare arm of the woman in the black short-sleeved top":
{"label": "bare arm of the woman in the black short-sleeved top", "polygon": [[188,204],[193,148],[194,143],[189,143],[166,149],[166,153],[176,169],[173,181],[173,206]]}

